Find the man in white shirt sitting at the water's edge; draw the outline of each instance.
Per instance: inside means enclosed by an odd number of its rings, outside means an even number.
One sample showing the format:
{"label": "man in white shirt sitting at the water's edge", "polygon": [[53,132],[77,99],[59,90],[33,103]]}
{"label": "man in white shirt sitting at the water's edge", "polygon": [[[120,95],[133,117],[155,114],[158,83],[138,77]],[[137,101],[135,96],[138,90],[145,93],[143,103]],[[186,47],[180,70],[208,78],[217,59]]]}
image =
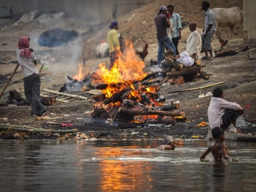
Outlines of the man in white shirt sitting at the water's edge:
{"label": "man in white shirt sitting at the water's edge", "polygon": [[243,108],[237,103],[225,101],[221,88],[215,88],[212,91],[212,96],[208,107],[208,120],[211,129],[221,127],[225,131],[231,125],[241,133],[241,130],[236,127],[236,119],[243,114]]}

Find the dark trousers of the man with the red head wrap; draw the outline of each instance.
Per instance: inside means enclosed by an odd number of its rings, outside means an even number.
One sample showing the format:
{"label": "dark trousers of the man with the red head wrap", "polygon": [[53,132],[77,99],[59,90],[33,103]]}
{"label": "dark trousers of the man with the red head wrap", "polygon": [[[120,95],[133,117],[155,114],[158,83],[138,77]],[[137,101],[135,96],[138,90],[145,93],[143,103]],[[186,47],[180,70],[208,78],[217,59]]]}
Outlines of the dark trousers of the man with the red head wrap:
{"label": "dark trousers of the man with the red head wrap", "polygon": [[40,116],[45,112],[45,106],[40,103],[40,75],[32,74],[24,78],[25,96],[31,103],[31,115]]}

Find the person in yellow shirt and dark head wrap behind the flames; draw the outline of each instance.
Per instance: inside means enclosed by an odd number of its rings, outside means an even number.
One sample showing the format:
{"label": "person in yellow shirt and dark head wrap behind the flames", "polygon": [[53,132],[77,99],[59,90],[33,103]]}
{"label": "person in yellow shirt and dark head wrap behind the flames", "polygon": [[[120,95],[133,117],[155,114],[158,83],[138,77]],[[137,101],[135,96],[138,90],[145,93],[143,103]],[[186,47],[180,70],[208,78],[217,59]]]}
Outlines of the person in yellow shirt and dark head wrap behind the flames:
{"label": "person in yellow shirt and dark head wrap behind the flames", "polygon": [[114,66],[115,60],[118,59],[118,53],[120,51],[120,42],[118,39],[118,22],[113,21],[109,25],[109,31],[107,33],[107,44],[108,44],[108,51],[109,51],[109,69]]}

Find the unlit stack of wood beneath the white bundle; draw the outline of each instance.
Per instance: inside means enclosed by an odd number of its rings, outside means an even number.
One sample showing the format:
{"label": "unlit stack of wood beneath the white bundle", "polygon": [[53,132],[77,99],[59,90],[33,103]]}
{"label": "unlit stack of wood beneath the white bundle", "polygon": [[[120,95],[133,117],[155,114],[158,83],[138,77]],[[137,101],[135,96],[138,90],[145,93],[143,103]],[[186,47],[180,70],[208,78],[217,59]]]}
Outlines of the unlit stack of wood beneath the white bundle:
{"label": "unlit stack of wood beneath the white bundle", "polygon": [[194,59],[194,64],[191,67],[184,67],[183,64],[176,61],[178,57],[173,56],[172,51],[164,53],[165,60],[161,63],[162,73],[165,77],[165,82],[169,84],[180,85],[186,82],[196,81],[200,78],[208,80],[209,73],[202,70],[201,61]]}

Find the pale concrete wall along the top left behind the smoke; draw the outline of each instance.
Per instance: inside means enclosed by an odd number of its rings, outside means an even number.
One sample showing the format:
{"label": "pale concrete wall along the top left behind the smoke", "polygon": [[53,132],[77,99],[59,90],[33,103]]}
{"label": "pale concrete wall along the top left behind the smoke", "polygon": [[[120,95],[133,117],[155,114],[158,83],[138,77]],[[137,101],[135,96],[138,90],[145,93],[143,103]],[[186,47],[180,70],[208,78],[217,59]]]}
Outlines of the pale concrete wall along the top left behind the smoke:
{"label": "pale concrete wall along the top left behind the smoke", "polygon": [[126,14],[142,7],[151,0],[0,0],[0,4],[11,5],[13,17],[19,19],[23,14],[37,9],[61,11],[70,16],[88,20],[101,19],[109,21],[115,16]]}

